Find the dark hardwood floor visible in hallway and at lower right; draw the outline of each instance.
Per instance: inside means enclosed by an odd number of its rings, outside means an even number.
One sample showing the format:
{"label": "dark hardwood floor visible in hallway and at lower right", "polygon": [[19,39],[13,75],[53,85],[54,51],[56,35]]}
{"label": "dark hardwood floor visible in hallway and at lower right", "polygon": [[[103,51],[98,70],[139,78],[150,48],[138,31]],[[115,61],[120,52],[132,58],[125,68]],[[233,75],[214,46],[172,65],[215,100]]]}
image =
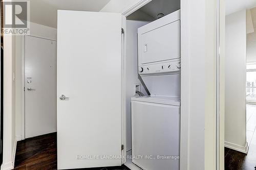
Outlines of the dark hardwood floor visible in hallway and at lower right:
{"label": "dark hardwood floor visible in hallway and at lower right", "polygon": [[[256,135],[253,135],[253,137],[256,141]],[[225,170],[254,170],[255,165],[256,143],[252,142],[250,144],[247,155],[225,148]],[[50,133],[18,141],[14,169],[57,169],[57,133]],[[126,166],[84,169],[130,170]]]}

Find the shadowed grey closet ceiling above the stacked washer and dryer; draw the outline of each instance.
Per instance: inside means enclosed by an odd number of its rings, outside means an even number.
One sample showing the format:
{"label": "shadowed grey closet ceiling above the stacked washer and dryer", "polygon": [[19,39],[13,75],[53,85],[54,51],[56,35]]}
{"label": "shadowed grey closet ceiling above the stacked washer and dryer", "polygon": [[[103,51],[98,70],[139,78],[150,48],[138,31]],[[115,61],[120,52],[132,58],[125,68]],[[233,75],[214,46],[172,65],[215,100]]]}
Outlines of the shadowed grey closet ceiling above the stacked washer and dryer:
{"label": "shadowed grey closet ceiling above the stacked washer and dryer", "polygon": [[167,15],[180,9],[180,0],[153,0],[140,8],[140,11],[157,19],[157,14]]}

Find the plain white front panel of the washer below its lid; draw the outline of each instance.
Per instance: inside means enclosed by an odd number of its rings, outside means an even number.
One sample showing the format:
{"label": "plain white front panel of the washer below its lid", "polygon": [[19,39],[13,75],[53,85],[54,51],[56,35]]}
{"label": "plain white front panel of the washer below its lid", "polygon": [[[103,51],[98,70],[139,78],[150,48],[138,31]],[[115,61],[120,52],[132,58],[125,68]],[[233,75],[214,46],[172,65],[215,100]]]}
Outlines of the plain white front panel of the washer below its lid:
{"label": "plain white front panel of the washer below its lid", "polygon": [[[180,155],[180,106],[132,101],[132,151],[143,156],[132,161],[145,170],[178,170],[179,159],[157,156]],[[150,155],[156,159],[145,159]]]}

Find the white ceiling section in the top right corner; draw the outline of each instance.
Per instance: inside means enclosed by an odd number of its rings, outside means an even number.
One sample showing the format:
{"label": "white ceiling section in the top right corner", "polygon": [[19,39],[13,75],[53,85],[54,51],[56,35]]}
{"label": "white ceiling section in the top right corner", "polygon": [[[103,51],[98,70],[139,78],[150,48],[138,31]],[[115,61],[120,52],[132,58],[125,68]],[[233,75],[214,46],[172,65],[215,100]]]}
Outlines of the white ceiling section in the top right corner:
{"label": "white ceiling section in the top right corner", "polygon": [[256,7],[256,0],[226,0],[226,15]]}

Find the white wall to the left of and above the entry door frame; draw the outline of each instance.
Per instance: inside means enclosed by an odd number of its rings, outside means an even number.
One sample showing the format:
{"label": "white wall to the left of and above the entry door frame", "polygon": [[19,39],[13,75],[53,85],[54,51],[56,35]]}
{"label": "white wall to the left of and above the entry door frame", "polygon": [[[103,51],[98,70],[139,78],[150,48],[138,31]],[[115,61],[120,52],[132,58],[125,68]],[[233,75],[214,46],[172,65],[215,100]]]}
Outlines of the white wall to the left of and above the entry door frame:
{"label": "white wall to the left of and above the entry door frame", "polygon": [[[42,26],[37,23],[30,22],[30,35],[40,38],[46,38],[51,40],[57,40],[57,29]],[[24,62],[24,58],[22,54],[24,53],[24,36],[16,36],[16,138],[17,140],[24,139],[24,112],[23,112],[23,99],[24,99],[24,93],[23,93],[23,86],[22,86],[22,73],[24,70],[22,70],[22,62]]]}

